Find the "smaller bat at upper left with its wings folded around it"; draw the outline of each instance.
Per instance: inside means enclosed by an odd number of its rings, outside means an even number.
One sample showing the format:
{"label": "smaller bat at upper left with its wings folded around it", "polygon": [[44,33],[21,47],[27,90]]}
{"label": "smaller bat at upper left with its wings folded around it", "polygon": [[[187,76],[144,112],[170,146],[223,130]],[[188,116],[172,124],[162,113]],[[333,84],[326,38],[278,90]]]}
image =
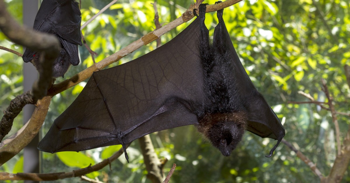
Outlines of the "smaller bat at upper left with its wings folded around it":
{"label": "smaller bat at upper left with its wings folded around it", "polygon": [[[62,49],[52,67],[53,77],[63,77],[71,64],[79,64],[78,45],[82,46],[80,15],[75,0],[43,0],[36,14],[33,29],[54,34],[61,42]],[[39,52],[26,48],[22,58],[24,62],[33,63],[39,70]]]}

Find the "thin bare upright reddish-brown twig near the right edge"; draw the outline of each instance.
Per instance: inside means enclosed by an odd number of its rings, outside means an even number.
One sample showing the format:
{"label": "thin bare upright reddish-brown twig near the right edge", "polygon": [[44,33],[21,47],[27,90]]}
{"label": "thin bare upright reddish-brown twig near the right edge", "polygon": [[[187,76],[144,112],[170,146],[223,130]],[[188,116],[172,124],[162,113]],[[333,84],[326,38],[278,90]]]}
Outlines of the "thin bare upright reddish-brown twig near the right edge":
{"label": "thin bare upright reddish-brown twig near the right edge", "polygon": [[330,96],[330,93],[328,91],[328,87],[326,85],[326,82],[324,81],[324,79],[321,79],[321,83],[323,85],[323,89],[324,89],[324,93],[326,94],[327,98],[328,98],[328,105],[331,111],[331,115],[332,115],[332,121],[334,123],[334,127],[335,127],[335,133],[336,133],[336,140],[337,140],[337,152],[338,155],[341,155],[341,144],[340,144],[340,131],[339,131],[339,124],[338,124],[338,119],[337,119],[337,115],[335,113],[335,107],[332,104],[333,102],[333,97]]}

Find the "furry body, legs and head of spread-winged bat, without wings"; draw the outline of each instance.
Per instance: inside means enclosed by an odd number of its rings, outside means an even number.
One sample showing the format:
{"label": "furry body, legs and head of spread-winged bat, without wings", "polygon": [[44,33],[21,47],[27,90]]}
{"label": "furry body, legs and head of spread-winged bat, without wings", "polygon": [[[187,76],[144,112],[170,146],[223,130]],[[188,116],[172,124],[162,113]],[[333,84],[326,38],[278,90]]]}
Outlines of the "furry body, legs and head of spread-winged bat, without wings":
{"label": "furry body, legs and head of spread-winged bat, without wings", "polygon": [[[205,91],[208,101],[196,110],[199,125],[198,131],[207,137],[225,156],[229,156],[243,137],[247,126],[247,112],[244,99],[238,92],[232,71],[230,53],[225,47],[221,26],[217,26],[212,46],[209,44],[209,31],[204,25],[206,5],[201,4],[200,50],[204,70]],[[217,12],[222,21],[223,10]]]}

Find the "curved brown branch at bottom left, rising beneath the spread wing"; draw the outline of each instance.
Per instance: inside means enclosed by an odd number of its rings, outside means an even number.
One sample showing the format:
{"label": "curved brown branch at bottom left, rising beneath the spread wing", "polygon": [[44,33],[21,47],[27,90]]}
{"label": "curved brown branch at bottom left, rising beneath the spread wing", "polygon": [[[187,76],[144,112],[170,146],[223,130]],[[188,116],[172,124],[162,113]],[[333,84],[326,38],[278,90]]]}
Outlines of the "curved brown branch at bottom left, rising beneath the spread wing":
{"label": "curved brown branch at bottom left, rising beneath the spread wing", "polygon": [[[126,145],[126,148],[130,144]],[[73,170],[70,172],[58,172],[58,173],[48,173],[48,174],[35,174],[35,173],[17,173],[10,174],[7,172],[0,172],[0,180],[10,180],[10,181],[19,181],[19,180],[31,180],[31,181],[54,181],[63,178],[71,177],[80,177],[85,174],[89,174],[93,171],[102,169],[103,167],[109,165],[109,162],[116,160],[121,154],[124,153],[123,148],[116,153],[114,153],[110,158],[107,158],[96,165],[88,166],[86,168]]]}

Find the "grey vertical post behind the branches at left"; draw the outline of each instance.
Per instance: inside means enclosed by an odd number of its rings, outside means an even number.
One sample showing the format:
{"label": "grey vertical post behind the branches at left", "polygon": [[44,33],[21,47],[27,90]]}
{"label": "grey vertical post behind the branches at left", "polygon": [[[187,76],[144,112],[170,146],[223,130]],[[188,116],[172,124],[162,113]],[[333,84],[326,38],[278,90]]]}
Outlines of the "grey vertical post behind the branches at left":
{"label": "grey vertical post behind the branches at left", "polygon": [[[38,0],[23,0],[23,24],[32,29],[36,13],[38,12],[39,1]],[[24,48],[23,48],[24,51]],[[23,63],[23,91],[31,90],[31,86],[38,78],[38,72],[31,63]],[[23,108],[23,123],[26,123],[35,109],[34,105],[26,105]],[[40,173],[39,162],[40,153],[36,148],[39,142],[39,135],[36,135],[34,139],[24,148],[23,158],[24,165],[23,171],[26,173]],[[37,181],[25,181],[25,183],[36,183]]]}

